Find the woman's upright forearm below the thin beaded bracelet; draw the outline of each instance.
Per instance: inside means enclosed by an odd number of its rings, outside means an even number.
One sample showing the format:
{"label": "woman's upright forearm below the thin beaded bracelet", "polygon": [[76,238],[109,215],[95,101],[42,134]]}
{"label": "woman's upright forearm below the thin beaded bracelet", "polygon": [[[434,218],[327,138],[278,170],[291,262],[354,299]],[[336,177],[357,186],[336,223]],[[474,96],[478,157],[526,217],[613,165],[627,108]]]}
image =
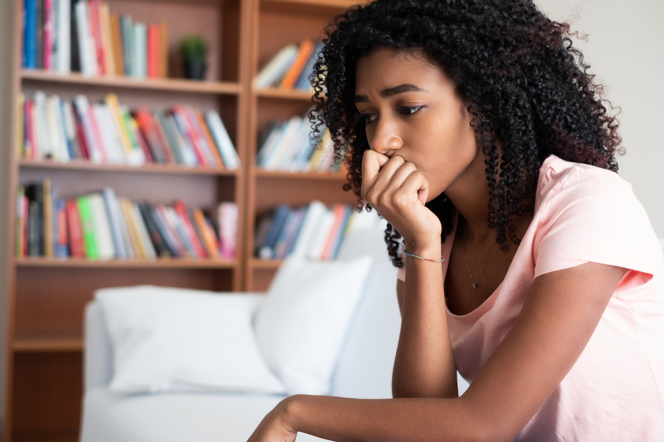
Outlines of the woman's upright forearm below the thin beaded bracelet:
{"label": "woman's upright forearm below the thin beaded bracelet", "polygon": [[[418,256],[440,256],[436,249]],[[392,372],[395,398],[456,398],[456,365],[450,345],[440,263],[406,257],[399,343]]]}

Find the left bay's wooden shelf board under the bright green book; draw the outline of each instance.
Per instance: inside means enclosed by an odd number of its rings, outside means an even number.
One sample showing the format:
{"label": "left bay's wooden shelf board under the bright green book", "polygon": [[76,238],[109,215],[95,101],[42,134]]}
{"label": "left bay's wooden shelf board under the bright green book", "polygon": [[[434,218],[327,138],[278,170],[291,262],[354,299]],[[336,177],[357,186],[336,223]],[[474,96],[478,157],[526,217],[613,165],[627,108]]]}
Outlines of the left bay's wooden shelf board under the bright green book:
{"label": "left bay's wooden shelf board under the bright green book", "polygon": [[235,259],[180,259],[161,258],[156,260],[88,260],[84,258],[44,258],[29,257],[17,258],[19,267],[59,267],[59,268],[236,268]]}

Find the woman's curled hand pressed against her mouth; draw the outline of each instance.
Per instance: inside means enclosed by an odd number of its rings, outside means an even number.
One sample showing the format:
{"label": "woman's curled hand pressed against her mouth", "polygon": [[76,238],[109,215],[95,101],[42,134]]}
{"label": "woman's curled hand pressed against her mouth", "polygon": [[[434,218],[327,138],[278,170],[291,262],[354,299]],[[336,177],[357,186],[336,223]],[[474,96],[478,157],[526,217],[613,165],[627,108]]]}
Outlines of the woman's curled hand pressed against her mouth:
{"label": "woman's curled hand pressed against her mouth", "polygon": [[440,252],[440,220],[424,207],[429,183],[412,162],[398,155],[390,158],[365,150],[361,192],[371,207],[404,237],[408,252]]}

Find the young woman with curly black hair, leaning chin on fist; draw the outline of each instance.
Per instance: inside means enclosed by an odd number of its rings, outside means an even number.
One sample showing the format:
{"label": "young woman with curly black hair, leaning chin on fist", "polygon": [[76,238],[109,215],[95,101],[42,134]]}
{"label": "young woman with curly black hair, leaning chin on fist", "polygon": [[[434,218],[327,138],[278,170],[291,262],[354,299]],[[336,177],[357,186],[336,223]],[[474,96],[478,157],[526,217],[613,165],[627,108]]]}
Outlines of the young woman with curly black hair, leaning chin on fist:
{"label": "young woman with curly black hair, leaning chin on fist", "polygon": [[394,399],[291,396],[250,442],[664,440],[664,258],[568,25],[532,0],[378,0],[316,68],[390,223]]}

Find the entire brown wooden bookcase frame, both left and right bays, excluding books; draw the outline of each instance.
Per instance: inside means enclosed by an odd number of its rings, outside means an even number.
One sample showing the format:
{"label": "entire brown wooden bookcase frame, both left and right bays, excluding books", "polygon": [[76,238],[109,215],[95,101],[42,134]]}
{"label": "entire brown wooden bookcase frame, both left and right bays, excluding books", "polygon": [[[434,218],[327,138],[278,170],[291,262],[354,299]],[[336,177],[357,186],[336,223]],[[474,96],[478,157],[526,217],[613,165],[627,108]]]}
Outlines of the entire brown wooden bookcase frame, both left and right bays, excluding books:
{"label": "entire brown wooden bookcase frame, both left and right bays, excluding books", "polygon": [[[23,0],[15,3],[12,63],[15,109],[21,91],[44,90],[70,99],[85,93],[98,101],[116,93],[121,104],[169,107],[189,103],[219,111],[240,156],[236,171],[187,168],[175,164],[116,166],[86,161],[58,163],[17,158],[11,151],[11,195],[19,185],[51,178],[66,197],[104,186],[132,200],[170,201],[181,197],[197,207],[219,201],[238,203],[238,256],[233,260],[107,260],[14,257],[15,204],[3,207],[11,223],[8,235],[9,329],[7,333],[7,424],[5,441],[75,441],[80,425],[83,311],[94,290],[111,286],[155,284],[201,290],[264,290],[280,260],[252,257],[256,219],[280,203],[301,205],[355,202],[344,192],[345,174],[277,172],[254,167],[256,140],[270,121],[303,115],[311,95],[278,88],[253,89],[252,79],[280,48],[303,38],[319,38],[321,29],[353,0],[107,0],[112,12],[135,21],[169,28],[169,53],[189,33],[210,42],[207,80],[184,80],[177,66],[172,78],[135,80],[86,77],[21,68]],[[175,60],[171,58],[171,60]],[[17,115],[11,127],[16,131]],[[11,133],[5,139],[16,139]],[[191,199],[188,199],[190,198]],[[40,404],[38,408],[34,404]],[[55,418],[54,416],[57,416]],[[67,435],[66,437],[63,435]]]}

